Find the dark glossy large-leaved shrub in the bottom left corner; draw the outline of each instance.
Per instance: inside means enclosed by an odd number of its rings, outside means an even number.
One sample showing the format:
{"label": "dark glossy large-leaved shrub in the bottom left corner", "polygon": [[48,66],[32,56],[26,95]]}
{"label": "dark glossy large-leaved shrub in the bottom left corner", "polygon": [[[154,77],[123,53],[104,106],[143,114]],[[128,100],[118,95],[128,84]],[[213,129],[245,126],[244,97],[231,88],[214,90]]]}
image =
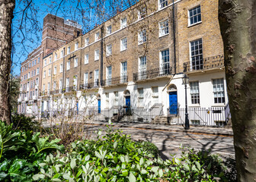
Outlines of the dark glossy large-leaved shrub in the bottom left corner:
{"label": "dark glossy large-leaved shrub in the bottom left corner", "polygon": [[0,121],[0,181],[32,181],[39,165],[53,150],[64,150],[59,140],[39,137],[40,133],[13,130]]}

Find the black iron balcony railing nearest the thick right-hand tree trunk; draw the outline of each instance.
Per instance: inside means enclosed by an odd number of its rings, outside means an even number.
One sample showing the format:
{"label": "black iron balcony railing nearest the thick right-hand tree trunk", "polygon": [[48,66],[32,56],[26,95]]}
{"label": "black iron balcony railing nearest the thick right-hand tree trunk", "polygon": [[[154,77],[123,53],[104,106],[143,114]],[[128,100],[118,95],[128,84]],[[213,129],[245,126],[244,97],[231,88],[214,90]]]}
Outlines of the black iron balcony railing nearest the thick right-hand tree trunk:
{"label": "black iron balcony railing nearest the thick right-hand tree trunk", "polygon": [[224,55],[216,55],[210,58],[184,62],[183,67],[184,72],[203,71],[217,67],[224,67]]}

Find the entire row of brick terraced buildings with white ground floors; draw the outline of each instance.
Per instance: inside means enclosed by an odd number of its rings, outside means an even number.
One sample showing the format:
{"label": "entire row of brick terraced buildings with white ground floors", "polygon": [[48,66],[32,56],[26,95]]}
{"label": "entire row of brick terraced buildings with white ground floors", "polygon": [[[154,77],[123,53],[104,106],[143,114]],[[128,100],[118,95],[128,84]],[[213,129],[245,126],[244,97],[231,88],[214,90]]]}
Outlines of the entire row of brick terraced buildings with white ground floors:
{"label": "entire row of brick terraced buildings with white ground floors", "polygon": [[[51,14],[44,18],[40,51],[21,65],[18,111],[183,124],[186,74],[190,124],[226,123],[217,0],[140,1],[85,33],[79,28]],[[32,76],[24,75],[35,59],[39,74],[31,87]]]}

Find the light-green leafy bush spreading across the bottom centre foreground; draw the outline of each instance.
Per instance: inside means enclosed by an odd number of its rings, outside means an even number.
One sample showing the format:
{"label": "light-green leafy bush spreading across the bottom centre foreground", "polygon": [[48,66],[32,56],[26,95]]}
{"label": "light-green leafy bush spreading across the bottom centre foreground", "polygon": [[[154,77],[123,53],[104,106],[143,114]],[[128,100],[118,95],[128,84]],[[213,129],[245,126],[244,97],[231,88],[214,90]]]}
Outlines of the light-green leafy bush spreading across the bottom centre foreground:
{"label": "light-green leafy bush spreading across the bottom centre foreground", "polygon": [[[101,132],[99,132],[99,135]],[[163,161],[155,150],[120,130],[98,140],[72,143],[66,155],[48,155],[34,180],[43,181],[235,181],[224,162],[209,152],[190,149]],[[235,166],[229,166],[235,168]]]}

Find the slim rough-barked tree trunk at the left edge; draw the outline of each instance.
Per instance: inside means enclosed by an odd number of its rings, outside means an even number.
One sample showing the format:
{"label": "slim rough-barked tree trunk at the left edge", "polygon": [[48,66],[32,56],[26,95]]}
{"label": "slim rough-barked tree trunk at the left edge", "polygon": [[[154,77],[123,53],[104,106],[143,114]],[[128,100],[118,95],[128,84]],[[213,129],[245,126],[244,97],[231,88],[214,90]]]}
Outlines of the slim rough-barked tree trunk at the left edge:
{"label": "slim rough-barked tree trunk at the left edge", "polygon": [[0,120],[11,124],[9,80],[11,72],[11,21],[14,0],[0,0]]}

